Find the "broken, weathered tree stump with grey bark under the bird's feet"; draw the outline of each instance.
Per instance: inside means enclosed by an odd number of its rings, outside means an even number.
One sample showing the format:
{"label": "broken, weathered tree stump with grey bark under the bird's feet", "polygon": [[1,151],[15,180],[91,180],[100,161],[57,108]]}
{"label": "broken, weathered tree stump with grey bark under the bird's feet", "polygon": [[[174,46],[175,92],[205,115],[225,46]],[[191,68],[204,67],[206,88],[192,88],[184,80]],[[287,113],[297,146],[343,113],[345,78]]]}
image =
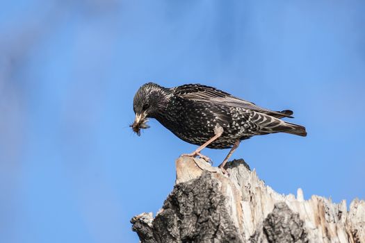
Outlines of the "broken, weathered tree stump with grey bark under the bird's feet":
{"label": "broken, weathered tree stump with grey bark under the bird's feet", "polygon": [[162,209],[131,219],[142,243],[352,242],[365,243],[365,201],[305,201],[278,194],[243,160],[227,163],[229,176],[204,160],[176,161],[175,187]]}

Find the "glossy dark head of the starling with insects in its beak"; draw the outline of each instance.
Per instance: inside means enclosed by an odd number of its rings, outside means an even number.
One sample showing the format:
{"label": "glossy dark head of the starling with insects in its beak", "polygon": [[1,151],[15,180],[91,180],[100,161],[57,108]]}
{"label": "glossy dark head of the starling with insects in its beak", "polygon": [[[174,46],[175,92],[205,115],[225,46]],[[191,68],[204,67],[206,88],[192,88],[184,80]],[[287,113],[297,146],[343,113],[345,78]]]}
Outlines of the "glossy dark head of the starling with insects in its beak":
{"label": "glossy dark head of the starling with insects in its beak", "polygon": [[167,90],[156,83],[146,83],[134,95],[133,110],[136,117],[131,128],[138,136],[141,128],[149,128],[148,118],[156,118],[165,108],[168,103]]}

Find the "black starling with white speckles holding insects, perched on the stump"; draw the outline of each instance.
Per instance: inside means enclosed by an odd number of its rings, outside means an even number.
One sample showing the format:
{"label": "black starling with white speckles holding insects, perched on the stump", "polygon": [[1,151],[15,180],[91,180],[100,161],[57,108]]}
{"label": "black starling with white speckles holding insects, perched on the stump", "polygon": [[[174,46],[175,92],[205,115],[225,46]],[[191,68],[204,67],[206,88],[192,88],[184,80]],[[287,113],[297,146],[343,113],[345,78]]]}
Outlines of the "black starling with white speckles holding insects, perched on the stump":
{"label": "black starling with white speckles holding insects, perched on the stump", "polygon": [[201,84],[186,84],[177,87],[162,87],[145,83],[133,98],[135,119],[132,130],[149,128],[149,118],[156,119],[181,140],[198,145],[192,153],[181,156],[197,157],[210,162],[201,151],[231,149],[218,166],[223,173],[226,162],[242,140],[254,135],[291,133],[305,137],[305,126],[283,121],[293,118],[293,111],[274,111],[255,103],[234,97],[215,87]]}

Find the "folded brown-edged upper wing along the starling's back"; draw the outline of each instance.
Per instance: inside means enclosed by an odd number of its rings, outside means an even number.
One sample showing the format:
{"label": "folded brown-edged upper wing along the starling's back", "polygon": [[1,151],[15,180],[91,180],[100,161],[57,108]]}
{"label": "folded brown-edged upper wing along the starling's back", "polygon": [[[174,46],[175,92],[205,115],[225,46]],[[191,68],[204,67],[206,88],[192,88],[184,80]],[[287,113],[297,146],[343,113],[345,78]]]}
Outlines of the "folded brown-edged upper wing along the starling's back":
{"label": "folded brown-edged upper wing along the starling's back", "polygon": [[254,103],[250,101],[239,99],[237,97],[232,96],[231,94],[228,94],[227,92],[205,85],[199,85],[199,84],[181,85],[175,88],[175,95],[178,95],[183,99],[189,99],[192,101],[216,103],[221,106],[233,106],[233,107],[243,108],[246,110],[254,110],[277,118],[282,118],[282,117],[293,118],[291,116],[293,115],[293,112],[291,110],[283,110],[281,112],[268,110],[266,108],[256,106]]}

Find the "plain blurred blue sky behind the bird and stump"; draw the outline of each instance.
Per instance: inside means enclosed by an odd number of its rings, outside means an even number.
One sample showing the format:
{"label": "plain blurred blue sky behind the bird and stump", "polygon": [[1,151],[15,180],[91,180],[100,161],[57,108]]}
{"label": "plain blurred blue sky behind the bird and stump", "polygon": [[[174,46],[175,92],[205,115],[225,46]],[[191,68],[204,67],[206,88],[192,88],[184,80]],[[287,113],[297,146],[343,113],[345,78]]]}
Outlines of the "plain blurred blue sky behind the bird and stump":
{"label": "plain blurred blue sky behind the bird and stump", "polygon": [[[138,242],[175,159],[195,146],[157,121],[132,133],[133,95],[202,83],[294,110],[307,137],[241,143],[280,193],[365,198],[365,2],[0,3],[0,242]],[[219,165],[227,150],[206,149]]]}

